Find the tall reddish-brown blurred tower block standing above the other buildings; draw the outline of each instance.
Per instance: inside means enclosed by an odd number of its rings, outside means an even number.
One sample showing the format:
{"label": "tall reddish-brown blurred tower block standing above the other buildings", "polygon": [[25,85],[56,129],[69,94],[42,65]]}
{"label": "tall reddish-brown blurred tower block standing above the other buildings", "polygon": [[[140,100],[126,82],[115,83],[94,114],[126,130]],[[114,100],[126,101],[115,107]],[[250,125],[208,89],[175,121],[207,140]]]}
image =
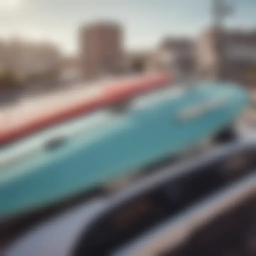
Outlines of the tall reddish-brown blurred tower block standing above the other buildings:
{"label": "tall reddish-brown blurred tower block standing above the other buildings", "polygon": [[123,68],[123,33],[114,22],[97,22],[81,27],[80,64],[82,76],[94,79],[118,74]]}

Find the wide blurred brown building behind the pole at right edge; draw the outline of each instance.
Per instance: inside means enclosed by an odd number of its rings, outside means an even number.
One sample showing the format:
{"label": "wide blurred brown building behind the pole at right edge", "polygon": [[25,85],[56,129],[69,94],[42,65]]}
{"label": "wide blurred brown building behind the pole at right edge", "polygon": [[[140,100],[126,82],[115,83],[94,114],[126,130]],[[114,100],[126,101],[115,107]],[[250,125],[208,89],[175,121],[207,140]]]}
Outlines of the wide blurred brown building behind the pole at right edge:
{"label": "wide blurred brown building behind the pole at right edge", "polygon": [[[216,36],[221,39],[222,48],[215,47]],[[220,79],[217,72],[219,67],[222,69],[223,79],[256,84],[256,31],[204,31],[197,41],[199,75]]]}

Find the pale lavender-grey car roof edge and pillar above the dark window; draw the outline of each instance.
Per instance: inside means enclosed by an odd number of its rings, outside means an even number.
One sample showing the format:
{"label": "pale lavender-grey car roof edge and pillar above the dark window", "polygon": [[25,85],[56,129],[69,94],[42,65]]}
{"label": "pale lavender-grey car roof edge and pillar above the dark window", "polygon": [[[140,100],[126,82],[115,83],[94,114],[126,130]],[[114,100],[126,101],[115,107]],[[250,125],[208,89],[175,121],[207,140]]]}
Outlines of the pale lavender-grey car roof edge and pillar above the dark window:
{"label": "pale lavender-grey car roof edge and pillar above the dark window", "polygon": [[[79,236],[86,232],[92,223],[97,223],[98,220],[104,218],[106,214],[115,209],[120,203],[129,202],[129,200],[139,194],[154,190],[154,188],[162,183],[170,181],[175,177],[187,175],[194,171],[197,166],[202,166],[209,161],[231,155],[242,149],[251,148],[256,149],[256,141],[234,142],[228,145],[217,146],[206,153],[199,154],[184,162],[181,161],[178,164],[168,166],[148,175],[109,197],[96,198],[90,202],[82,203],[80,206],[60,214],[31,230],[31,232],[18,240],[10,248],[7,256],[43,256],[46,255],[46,247],[54,250],[54,256],[70,255],[70,248],[73,248]],[[54,239],[48,239],[47,234],[51,234]],[[63,239],[66,242],[62,242]],[[37,246],[30,247],[31,244],[37,244]],[[61,246],[55,246],[56,244],[61,244]],[[22,251],[24,254],[22,254]],[[47,255],[52,256],[49,253]]]}

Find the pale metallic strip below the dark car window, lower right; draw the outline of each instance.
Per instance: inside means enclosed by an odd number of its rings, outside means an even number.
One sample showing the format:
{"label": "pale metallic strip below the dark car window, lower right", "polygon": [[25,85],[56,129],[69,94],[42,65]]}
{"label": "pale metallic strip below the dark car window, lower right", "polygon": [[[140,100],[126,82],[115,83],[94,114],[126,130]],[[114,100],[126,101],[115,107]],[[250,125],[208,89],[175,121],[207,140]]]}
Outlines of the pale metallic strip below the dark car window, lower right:
{"label": "pale metallic strip below the dark car window, lower right", "polygon": [[175,249],[186,241],[194,230],[255,195],[255,183],[256,173],[254,172],[185,209],[180,215],[150,229],[117,249],[113,256],[154,256],[160,250]]}

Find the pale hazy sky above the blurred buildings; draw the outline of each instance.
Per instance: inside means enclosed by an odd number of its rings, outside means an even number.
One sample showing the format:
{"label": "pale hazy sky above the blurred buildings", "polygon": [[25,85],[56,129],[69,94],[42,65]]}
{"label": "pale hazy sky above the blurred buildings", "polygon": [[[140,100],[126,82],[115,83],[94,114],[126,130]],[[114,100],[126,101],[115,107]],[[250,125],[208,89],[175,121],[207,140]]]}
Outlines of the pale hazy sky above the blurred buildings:
{"label": "pale hazy sky above the blurred buildings", "polygon": [[[227,26],[256,28],[256,0],[225,0],[234,14]],[[0,0],[0,38],[19,36],[78,49],[81,24],[122,24],[127,49],[154,47],[165,36],[196,37],[211,20],[211,0]]]}

